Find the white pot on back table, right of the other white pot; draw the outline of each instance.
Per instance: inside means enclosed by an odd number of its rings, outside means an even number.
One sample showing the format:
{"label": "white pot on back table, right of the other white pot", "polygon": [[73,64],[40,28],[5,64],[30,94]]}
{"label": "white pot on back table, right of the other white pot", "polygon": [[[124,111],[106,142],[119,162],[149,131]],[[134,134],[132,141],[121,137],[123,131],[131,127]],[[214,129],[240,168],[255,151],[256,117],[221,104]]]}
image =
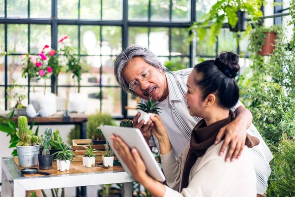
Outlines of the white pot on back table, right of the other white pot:
{"label": "white pot on back table, right of the other white pot", "polygon": [[87,110],[87,95],[72,93],[69,95],[69,112],[83,113]]}

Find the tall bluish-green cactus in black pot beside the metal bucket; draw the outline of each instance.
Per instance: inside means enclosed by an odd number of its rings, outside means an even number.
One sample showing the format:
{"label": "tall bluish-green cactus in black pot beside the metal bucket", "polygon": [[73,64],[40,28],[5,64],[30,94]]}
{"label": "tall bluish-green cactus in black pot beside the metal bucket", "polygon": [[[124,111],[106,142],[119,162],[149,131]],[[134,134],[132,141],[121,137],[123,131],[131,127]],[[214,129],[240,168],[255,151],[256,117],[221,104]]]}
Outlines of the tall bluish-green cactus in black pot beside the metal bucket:
{"label": "tall bluish-green cactus in black pot beside the metal bucket", "polygon": [[52,168],[53,155],[50,155],[50,152],[49,152],[51,136],[52,136],[52,129],[47,128],[44,132],[43,151],[42,151],[42,154],[38,155],[40,169]]}

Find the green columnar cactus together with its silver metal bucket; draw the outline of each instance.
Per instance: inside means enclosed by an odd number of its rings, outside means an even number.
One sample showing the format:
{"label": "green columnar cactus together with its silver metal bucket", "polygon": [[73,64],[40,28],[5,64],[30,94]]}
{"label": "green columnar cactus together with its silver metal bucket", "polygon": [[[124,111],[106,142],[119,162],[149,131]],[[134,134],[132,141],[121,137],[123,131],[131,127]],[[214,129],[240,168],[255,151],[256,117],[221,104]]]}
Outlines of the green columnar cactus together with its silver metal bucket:
{"label": "green columnar cactus together with its silver metal bucket", "polygon": [[28,119],[26,116],[19,116],[17,124],[20,136],[20,141],[16,144],[19,166],[37,166],[40,148],[40,144],[37,144],[38,137],[29,135]]}

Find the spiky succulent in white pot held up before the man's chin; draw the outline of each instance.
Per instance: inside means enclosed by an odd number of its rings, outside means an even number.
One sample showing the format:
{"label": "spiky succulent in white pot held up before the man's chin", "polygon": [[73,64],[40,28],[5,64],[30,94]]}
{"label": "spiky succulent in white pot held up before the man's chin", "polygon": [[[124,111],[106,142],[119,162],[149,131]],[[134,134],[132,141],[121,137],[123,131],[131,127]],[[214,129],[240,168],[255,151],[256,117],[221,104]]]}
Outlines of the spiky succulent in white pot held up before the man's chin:
{"label": "spiky succulent in white pot held up before the man's chin", "polygon": [[159,115],[160,108],[157,107],[159,103],[156,103],[157,100],[151,100],[151,97],[148,97],[148,102],[138,103],[136,109],[141,113],[138,122],[141,120],[145,120],[144,124],[150,120],[150,116],[154,116],[155,114]]}

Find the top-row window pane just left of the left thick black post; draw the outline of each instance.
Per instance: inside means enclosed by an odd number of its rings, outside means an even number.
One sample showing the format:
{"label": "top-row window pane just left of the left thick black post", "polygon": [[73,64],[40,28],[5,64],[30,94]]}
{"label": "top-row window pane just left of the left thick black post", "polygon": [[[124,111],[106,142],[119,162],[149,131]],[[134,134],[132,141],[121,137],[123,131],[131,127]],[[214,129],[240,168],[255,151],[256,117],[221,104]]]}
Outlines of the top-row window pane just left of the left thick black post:
{"label": "top-row window pane just left of the left thick black post", "polygon": [[51,0],[30,0],[29,1],[30,18],[51,18]]}

